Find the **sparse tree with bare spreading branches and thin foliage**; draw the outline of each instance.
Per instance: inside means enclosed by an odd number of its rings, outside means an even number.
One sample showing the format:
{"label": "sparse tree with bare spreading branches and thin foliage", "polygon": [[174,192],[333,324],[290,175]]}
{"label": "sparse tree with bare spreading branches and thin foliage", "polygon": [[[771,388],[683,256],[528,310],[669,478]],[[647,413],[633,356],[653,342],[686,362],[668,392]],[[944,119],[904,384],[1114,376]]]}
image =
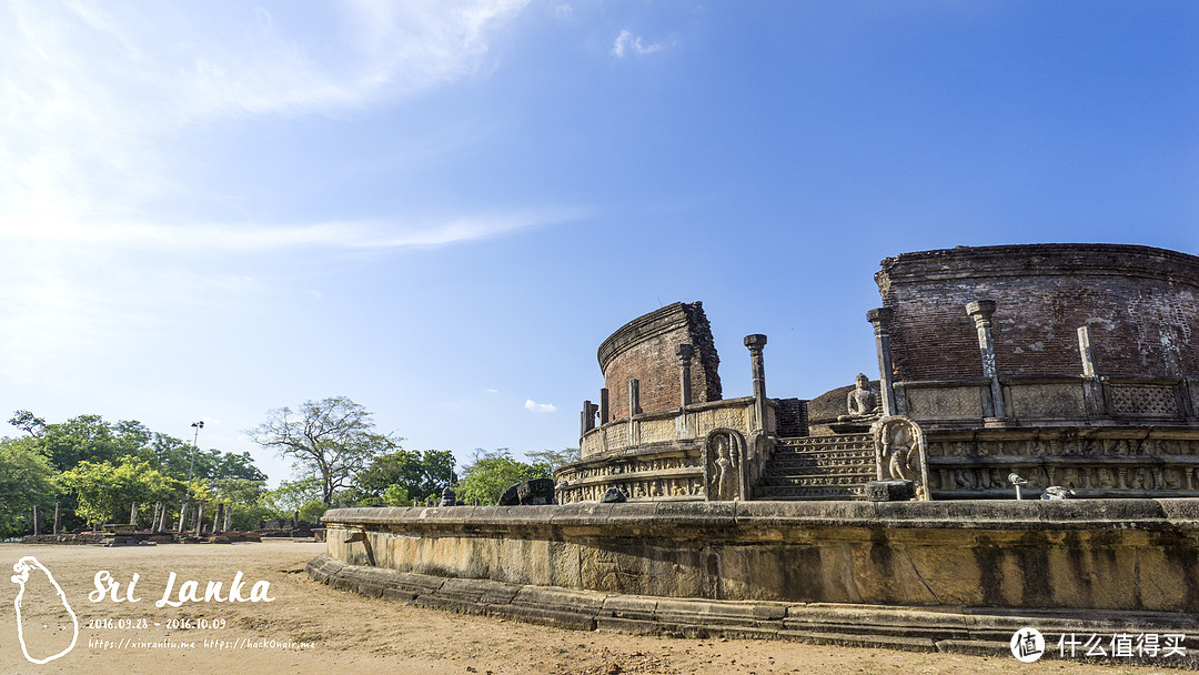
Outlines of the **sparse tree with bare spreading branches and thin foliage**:
{"label": "sparse tree with bare spreading branches and thin foliage", "polygon": [[376,433],[370,412],[349,398],[308,400],[293,411],[278,408],[266,422],[247,432],[255,442],[295,460],[302,478],[315,478],[320,500],[347,488],[376,456],[392,452],[398,439]]}

